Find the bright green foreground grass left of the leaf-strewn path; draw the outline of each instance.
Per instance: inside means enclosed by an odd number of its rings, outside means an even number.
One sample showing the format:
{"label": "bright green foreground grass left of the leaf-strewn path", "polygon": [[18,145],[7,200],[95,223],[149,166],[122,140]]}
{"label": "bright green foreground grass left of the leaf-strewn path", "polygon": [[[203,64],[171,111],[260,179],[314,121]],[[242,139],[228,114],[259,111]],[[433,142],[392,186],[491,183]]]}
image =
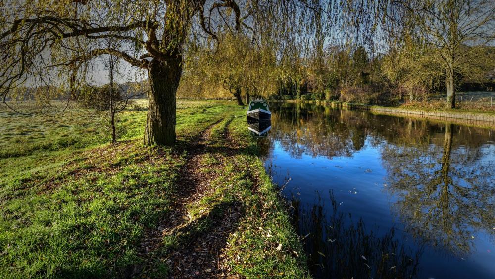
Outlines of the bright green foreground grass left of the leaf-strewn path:
{"label": "bright green foreground grass left of the leaf-strewn path", "polygon": [[[50,171],[40,173],[23,195],[15,195],[13,188],[0,209],[0,274],[123,276],[127,265],[143,261],[139,240],[170,209],[174,169],[182,162],[170,150],[137,142],[126,148],[129,156],[119,157],[127,163],[123,167],[92,161],[96,157],[87,154],[88,159],[74,164],[81,169],[62,171],[51,189],[42,178]],[[136,159],[138,153],[146,160]],[[88,165],[92,171],[83,170]]]}

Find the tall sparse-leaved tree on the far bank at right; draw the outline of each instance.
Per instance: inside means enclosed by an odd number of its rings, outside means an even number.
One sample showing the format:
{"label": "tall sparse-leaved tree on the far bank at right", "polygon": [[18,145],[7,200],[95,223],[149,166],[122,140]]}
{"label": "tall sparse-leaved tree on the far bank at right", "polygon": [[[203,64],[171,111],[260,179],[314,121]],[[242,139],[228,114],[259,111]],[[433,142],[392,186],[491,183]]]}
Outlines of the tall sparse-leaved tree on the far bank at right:
{"label": "tall sparse-leaved tree on the far bank at right", "polygon": [[[374,28],[393,48],[411,46],[423,53],[428,75],[442,76],[447,107],[455,108],[456,79],[481,80],[488,70],[483,62],[495,57],[495,1],[404,0],[374,1],[379,7]],[[370,24],[370,22],[368,22]],[[376,26],[380,28],[376,28]]]}

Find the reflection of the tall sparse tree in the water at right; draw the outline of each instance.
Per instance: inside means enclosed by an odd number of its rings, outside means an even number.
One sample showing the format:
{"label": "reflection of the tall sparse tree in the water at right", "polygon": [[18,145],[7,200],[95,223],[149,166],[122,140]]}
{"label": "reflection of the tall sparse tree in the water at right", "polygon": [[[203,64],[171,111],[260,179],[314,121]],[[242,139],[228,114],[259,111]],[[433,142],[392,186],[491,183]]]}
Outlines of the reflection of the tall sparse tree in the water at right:
{"label": "reflection of the tall sparse tree in the water at right", "polygon": [[493,234],[495,222],[494,149],[482,145],[492,135],[463,129],[445,124],[430,141],[399,138],[382,148],[399,220],[412,235],[455,254],[471,252],[476,232]]}

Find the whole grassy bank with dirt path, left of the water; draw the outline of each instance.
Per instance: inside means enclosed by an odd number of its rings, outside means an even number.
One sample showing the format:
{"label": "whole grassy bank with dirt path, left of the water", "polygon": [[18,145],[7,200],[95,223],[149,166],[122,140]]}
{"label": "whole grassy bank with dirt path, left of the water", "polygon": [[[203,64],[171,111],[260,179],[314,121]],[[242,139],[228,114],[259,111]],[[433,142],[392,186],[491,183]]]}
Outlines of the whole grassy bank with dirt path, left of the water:
{"label": "whole grassy bank with dirt path, left of the water", "polygon": [[0,277],[307,276],[233,102],[180,101],[172,148],[142,146],[146,108],[124,112],[113,146],[85,111],[12,113],[0,109]]}

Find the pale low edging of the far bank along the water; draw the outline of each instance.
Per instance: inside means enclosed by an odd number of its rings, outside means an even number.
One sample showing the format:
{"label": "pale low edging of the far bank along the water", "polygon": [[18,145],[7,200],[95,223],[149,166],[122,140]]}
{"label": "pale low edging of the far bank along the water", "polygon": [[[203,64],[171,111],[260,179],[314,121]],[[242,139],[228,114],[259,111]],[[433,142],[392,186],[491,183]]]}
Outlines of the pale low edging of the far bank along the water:
{"label": "pale low edging of the far bank along the water", "polygon": [[446,120],[458,124],[475,125],[481,127],[495,127],[495,112],[471,112],[452,110],[426,110],[421,108],[384,107],[377,105],[352,104],[339,101],[305,101],[305,100],[270,100],[271,102],[310,103],[331,106],[333,108],[368,110],[375,114],[406,116],[414,118],[428,118]]}

